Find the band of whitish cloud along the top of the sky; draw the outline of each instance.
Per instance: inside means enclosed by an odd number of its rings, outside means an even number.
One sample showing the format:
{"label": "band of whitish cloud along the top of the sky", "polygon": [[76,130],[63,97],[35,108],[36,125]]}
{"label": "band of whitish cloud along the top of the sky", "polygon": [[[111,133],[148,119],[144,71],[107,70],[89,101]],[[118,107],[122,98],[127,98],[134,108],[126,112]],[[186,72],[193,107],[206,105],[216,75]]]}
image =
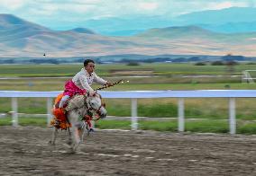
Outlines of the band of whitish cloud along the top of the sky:
{"label": "band of whitish cloud along the top of the sky", "polygon": [[173,17],[183,13],[255,4],[256,0],[1,0],[0,10],[25,16],[59,15],[61,18],[69,15],[85,18],[122,17],[127,14]]}

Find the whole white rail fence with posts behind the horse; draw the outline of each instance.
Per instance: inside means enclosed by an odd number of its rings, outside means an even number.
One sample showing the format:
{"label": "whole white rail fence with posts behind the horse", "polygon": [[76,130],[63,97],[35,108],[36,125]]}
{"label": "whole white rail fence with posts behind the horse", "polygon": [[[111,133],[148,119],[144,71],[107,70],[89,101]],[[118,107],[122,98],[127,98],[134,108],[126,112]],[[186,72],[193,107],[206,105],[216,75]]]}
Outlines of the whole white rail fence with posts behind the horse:
{"label": "whole white rail fence with posts behind the horse", "polygon": [[[60,92],[28,92],[28,91],[0,91],[1,97],[12,98],[13,126],[18,126],[18,98],[44,97],[47,98],[48,124],[52,118],[52,99]],[[99,91],[105,99],[131,99],[132,129],[138,129],[137,100],[153,98],[178,98],[178,131],[185,131],[184,99],[187,98],[227,98],[229,99],[229,128],[230,134],[236,132],[235,99],[256,98],[256,90],[196,90],[196,91]]]}

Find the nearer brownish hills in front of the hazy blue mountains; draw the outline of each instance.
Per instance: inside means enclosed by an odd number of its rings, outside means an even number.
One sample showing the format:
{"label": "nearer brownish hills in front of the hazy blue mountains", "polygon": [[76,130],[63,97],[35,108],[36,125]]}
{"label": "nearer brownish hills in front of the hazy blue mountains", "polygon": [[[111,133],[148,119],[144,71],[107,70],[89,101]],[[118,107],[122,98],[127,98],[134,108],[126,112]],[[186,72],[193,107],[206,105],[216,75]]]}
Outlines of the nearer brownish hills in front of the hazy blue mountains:
{"label": "nearer brownish hills in front of the hazy blue mountains", "polygon": [[[182,19],[179,17],[178,22],[183,22]],[[253,19],[250,22],[254,22]],[[112,37],[87,28],[52,31],[12,14],[0,14],[1,57],[42,57],[44,53],[46,57],[96,57],[125,54],[151,56],[233,54],[252,57],[256,56],[255,48],[256,32],[253,31],[224,33],[191,24],[152,28],[133,36]]]}

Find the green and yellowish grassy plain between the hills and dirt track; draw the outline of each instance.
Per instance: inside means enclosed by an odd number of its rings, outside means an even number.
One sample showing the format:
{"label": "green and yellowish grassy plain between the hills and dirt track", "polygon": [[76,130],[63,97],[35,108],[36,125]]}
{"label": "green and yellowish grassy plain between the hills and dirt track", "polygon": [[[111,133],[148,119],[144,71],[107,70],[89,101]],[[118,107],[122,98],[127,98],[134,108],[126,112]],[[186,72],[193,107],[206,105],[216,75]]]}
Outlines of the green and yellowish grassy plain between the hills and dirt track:
{"label": "green and yellowish grassy plain between the hills and dirt track", "polygon": [[[0,90],[21,91],[60,91],[65,81],[80,70],[80,65],[0,65]],[[213,90],[213,89],[256,89],[256,84],[241,83],[242,70],[255,69],[255,65],[241,64],[233,66],[232,72],[226,66],[194,66],[193,64],[146,64],[141,66],[97,65],[96,73],[107,80],[118,80],[115,70],[151,70],[157,77],[123,77],[129,83],[118,84],[108,91],[127,90]],[[136,73],[132,74],[132,76]],[[196,76],[204,75],[204,76]],[[63,77],[64,76],[64,77]],[[18,77],[18,78],[15,78]],[[6,79],[3,79],[6,78]],[[97,87],[98,85],[94,85]],[[108,114],[112,116],[131,116],[131,102],[127,99],[106,99]],[[236,99],[236,117],[239,119],[238,132],[256,133],[256,99]],[[46,99],[20,98],[19,112],[45,113]],[[228,131],[228,101],[226,99],[186,99],[185,116],[188,120],[186,128],[197,132]],[[11,100],[0,99],[0,112],[11,111]],[[140,99],[138,116],[177,118],[177,99]],[[189,119],[198,119],[190,121]],[[7,119],[0,119],[5,125]],[[24,118],[21,123],[46,123],[45,120]],[[7,120],[8,121],[8,120]],[[44,121],[44,122],[43,122]],[[9,121],[10,123],[10,121]],[[100,128],[131,128],[128,121],[101,121],[96,124]],[[140,121],[142,129],[177,131],[177,122]]]}

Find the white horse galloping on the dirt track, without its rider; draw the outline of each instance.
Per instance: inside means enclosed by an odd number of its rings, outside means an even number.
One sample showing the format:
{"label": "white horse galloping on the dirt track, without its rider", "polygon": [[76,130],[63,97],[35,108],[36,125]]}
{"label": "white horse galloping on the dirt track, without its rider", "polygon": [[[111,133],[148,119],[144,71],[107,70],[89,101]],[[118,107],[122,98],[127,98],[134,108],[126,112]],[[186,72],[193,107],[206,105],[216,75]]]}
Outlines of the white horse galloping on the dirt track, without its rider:
{"label": "white horse galloping on the dirt track, without its rider", "polygon": [[[106,117],[105,105],[102,102],[101,96],[98,93],[87,93],[85,95],[75,95],[69,100],[67,110],[67,118],[71,124],[69,131],[69,146],[73,152],[78,151],[78,145],[83,140],[84,131],[86,128],[82,128],[80,134],[78,133],[78,127],[81,126],[81,119],[87,116],[88,113],[94,112],[99,118],[104,119]],[[85,121],[83,120],[83,125]],[[53,128],[50,144],[55,145],[58,128]]]}

